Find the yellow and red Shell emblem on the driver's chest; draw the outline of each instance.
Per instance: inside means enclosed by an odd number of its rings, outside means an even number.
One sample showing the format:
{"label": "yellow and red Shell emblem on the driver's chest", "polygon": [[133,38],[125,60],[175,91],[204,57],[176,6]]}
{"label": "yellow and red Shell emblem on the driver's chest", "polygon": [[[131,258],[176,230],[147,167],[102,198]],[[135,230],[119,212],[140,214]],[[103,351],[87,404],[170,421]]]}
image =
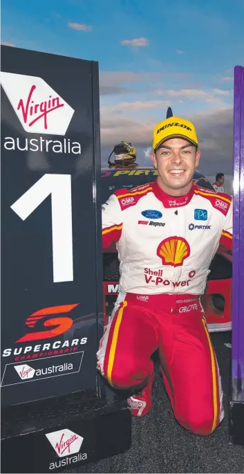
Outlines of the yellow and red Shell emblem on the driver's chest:
{"label": "yellow and red Shell emblem on the driver's chest", "polygon": [[190,247],[183,237],[168,237],[160,242],[157,255],[163,265],[181,266],[190,255]]}

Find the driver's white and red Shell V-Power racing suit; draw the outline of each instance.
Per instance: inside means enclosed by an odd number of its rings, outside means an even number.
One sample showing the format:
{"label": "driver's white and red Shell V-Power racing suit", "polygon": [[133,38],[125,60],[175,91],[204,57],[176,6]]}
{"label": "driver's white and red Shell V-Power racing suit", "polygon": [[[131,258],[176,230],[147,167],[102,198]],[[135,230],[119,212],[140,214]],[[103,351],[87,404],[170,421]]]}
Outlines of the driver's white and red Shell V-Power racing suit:
{"label": "driver's white and red Shell V-Power racing suit", "polygon": [[231,197],[196,185],[170,197],[157,181],[118,190],[102,206],[102,239],[117,242],[120,285],[98,370],[115,388],[142,388],[159,349],[176,419],[210,434],[223,419],[223,394],[200,295],[220,241],[232,249]]}

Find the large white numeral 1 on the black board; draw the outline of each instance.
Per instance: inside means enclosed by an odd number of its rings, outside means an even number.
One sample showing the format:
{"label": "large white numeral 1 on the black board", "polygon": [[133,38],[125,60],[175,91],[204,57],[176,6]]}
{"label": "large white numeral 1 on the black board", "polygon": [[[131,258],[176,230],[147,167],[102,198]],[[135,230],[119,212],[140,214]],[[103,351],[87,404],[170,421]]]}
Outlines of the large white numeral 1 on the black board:
{"label": "large white numeral 1 on the black board", "polygon": [[51,194],[53,282],[73,281],[73,231],[70,174],[44,174],[12,204],[24,221]]}

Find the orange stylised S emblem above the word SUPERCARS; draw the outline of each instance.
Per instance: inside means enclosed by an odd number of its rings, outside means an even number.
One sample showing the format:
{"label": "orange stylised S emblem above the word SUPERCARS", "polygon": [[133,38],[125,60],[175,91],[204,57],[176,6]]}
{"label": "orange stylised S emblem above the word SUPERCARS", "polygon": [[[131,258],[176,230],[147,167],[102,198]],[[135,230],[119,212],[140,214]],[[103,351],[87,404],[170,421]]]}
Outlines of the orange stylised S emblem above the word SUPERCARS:
{"label": "orange stylised S emblem above the word SUPERCARS", "polygon": [[[35,311],[35,313],[30,314],[26,319],[26,326],[28,327],[35,327],[37,322],[42,318],[46,318],[49,315],[55,315],[59,313],[69,313],[72,309],[78,306],[77,304],[62,304],[60,306],[53,306],[44,309],[39,309],[39,311]],[[53,338],[55,336],[59,336],[59,334],[64,334],[64,332],[68,331],[70,327],[73,325],[73,319],[69,318],[68,316],[61,316],[59,318],[50,318],[43,323],[44,327],[55,326],[53,329],[48,329],[48,331],[38,331],[38,332],[29,332],[25,334],[20,339],[16,340],[16,343],[24,343],[28,340],[38,340],[38,339],[46,339],[46,338]]]}

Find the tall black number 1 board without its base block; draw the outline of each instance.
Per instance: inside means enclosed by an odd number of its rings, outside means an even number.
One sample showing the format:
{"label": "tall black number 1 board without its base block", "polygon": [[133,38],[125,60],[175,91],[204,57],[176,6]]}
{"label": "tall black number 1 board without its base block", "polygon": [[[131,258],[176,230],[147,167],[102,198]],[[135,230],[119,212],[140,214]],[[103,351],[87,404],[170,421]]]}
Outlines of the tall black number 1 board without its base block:
{"label": "tall black number 1 board without its base block", "polygon": [[96,391],[99,134],[97,63],[1,47],[3,406]]}

